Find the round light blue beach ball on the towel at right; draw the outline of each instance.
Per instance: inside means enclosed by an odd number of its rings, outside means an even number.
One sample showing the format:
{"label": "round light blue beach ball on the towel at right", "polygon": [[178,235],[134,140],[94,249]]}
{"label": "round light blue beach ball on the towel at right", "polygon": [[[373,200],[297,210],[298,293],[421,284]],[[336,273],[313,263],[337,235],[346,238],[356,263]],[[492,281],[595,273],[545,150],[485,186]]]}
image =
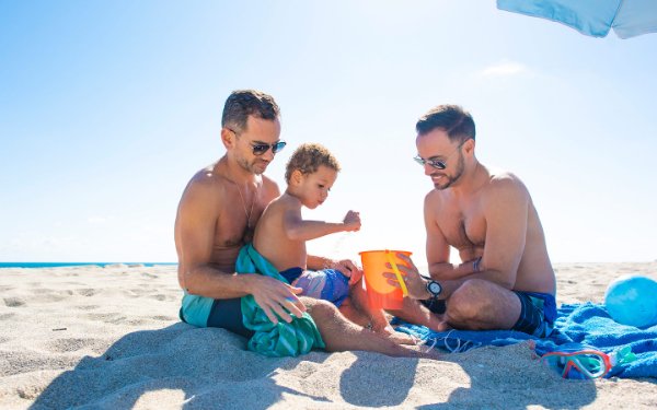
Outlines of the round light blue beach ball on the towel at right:
{"label": "round light blue beach ball on the towel at right", "polygon": [[619,324],[639,328],[657,325],[657,281],[625,274],[609,284],[607,312]]}

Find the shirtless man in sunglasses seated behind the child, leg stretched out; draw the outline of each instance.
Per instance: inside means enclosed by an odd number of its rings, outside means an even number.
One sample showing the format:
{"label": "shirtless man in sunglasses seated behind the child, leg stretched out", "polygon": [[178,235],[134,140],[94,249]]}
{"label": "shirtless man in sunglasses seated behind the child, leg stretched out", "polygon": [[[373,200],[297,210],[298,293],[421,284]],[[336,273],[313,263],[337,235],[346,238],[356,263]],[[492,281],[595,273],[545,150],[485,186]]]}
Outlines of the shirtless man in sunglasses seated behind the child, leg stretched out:
{"label": "shirtless man in sunglasses seated behind the child, leg stretched out", "polygon": [[[181,318],[250,337],[252,332],[242,324],[240,297],[252,294],[273,323],[278,321],[274,313],[289,323],[291,315],[301,317],[308,312],[328,351],[425,355],[417,347],[400,347],[348,321],[330,302],[298,297],[301,289],[261,274],[235,273],[240,248],[252,239],[266,206],[280,195],[276,183],[263,173],[285,142],[279,138],[278,106],[262,92],[233,92],[223,107],[221,126],[226,154],[194,175],[177,209],[178,282],[185,293]],[[345,274],[358,269],[349,260],[312,256],[308,268],[333,268]]]}

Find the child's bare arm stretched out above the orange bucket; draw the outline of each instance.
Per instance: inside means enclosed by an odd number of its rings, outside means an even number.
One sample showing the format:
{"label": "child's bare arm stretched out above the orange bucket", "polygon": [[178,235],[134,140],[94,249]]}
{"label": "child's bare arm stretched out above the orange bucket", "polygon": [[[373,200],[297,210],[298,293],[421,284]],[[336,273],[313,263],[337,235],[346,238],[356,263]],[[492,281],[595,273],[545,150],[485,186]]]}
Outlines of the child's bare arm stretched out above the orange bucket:
{"label": "child's bare arm stretched out above the orange bucket", "polygon": [[283,226],[288,238],[292,241],[311,241],[336,232],[360,230],[360,215],[349,211],[343,222],[304,221],[300,210],[289,210],[285,213]]}

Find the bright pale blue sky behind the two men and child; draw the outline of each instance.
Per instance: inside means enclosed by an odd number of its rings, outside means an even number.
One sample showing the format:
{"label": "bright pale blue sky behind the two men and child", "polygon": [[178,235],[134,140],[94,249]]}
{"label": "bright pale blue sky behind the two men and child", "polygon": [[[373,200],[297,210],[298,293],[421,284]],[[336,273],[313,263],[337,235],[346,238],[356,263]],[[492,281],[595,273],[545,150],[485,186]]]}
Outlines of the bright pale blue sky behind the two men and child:
{"label": "bright pale blue sky behind the two men and child", "polygon": [[527,185],[554,262],[656,260],[656,51],[657,34],[587,37],[493,0],[2,0],[0,261],[176,261],[181,194],[223,155],[239,89],[281,108],[281,187],[302,142],[342,164],[304,216],[362,227],[313,254],[426,263],[415,122],[459,104],[477,159]]}

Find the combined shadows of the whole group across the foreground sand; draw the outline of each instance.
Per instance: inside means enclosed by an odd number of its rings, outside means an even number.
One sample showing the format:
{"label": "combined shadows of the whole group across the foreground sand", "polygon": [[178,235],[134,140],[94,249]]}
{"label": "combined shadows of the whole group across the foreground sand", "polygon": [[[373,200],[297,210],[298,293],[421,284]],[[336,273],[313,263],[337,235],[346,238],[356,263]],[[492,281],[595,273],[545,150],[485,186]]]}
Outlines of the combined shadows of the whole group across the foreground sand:
{"label": "combined shadows of the whole group across the foreground sand", "polygon": [[[84,356],[76,368],[61,373],[31,409],[132,408],[145,395],[163,395],[166,390],[174,391],[173,396],[164,396],[171,397],[173,402],[169,405],[180,402],[184,409],[266,409],[280,402],[284,394],[307,397],[319,406],[336,405],[322,393],[312,396],[277,382],[279,377],[293,377],[293,385],[303,383],[303,378],[323,376],[319,366],[326,365],[327,354],[311,352],[302,358],[254,360],[255,353],[244,348],[245,339],[227,330],[199,329],[182,323],[159,330],[128,333],[102,355]],[[527,360],[510,362],[500,368],[496,365],[498,361],[489,361],[491,355],[498,352],[495,349],[499,348],[446,354],[442,360],[460,366],[470,378],[470,387],[457,387],[449,397],[420,408],[525,409],[541,406],[573,409],[596,399],[592,382],[563,380],[533,366],[534,362],[529,362],[530,368],[527,368]],[[506,354],[511,359],[518,356],[514,351]],[[519,351],[518,354],[523,353]],[[435,383],[451,382],[446,375],[434,374],[440,366],[418,366],[415,359],[393,359],[369,352],[354,352],[354,355],[356,360],[341,370],[339,375],[339,393],[351,406],[401,406],[414,386],[417,387],[418,379],[425,380],[420,382],[424,389]],[[459,380],[451,384],[463,385]],[[431,391],[420,394],[431,400]],[[436,396],[438,394],[436,391]]]}

